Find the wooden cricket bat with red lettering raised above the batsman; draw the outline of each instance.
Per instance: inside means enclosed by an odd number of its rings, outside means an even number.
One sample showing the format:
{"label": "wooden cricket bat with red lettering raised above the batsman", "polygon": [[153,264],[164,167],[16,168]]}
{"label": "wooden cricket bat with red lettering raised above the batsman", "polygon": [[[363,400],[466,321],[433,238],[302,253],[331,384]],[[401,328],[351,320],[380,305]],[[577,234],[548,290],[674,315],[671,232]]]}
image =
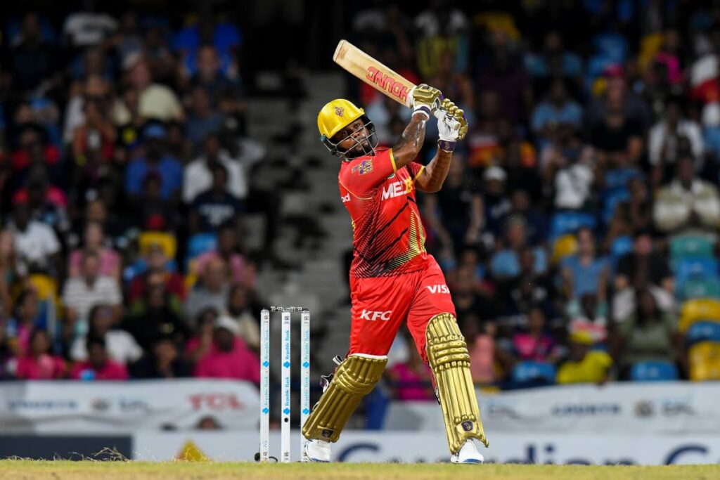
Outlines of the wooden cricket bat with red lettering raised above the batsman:
{"label": "wooden cricket bat with red lettering raised above the batsman", "polygon": [[410,107],[409,94],[415,88],[415,83],[379,63],[347,40],[340,40],[333,61],[374,89]]}

